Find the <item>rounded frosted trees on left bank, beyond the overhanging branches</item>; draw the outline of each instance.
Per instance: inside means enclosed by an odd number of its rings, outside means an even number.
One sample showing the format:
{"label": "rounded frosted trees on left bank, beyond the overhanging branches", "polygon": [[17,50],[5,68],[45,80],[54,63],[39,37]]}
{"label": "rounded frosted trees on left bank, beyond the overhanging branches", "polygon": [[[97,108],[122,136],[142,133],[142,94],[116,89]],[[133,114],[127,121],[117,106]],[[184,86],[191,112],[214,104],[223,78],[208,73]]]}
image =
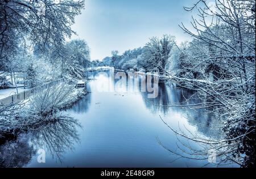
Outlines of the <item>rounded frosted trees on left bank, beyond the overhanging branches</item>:
{"label": "rounded frosted trees on left bank, beyond the overhanging branches", "polygon": [[[67,78],[71,80],[84,78],[84,70],[92,65],[90,62],[90,49],[84,40],[71,40],[61,46],[61,51],[56,48],[46,48],[44,54],[38,45],[34,48],[36,57],[35,65],[41,79]],[[43,72],[43,73],[40,73]],[[50,78],[50,79],[51,79]]]}

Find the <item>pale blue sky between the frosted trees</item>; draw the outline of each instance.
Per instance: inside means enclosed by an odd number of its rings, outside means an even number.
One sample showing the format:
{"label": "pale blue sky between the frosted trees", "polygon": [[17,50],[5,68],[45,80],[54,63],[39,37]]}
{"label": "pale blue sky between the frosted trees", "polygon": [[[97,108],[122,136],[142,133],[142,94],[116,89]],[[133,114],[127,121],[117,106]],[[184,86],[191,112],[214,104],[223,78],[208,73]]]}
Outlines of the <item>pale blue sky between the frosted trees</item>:
{"label": "pale blue sky between the frosted trees", "polygon": [[73,30],[88,42],[92,59],[110,56],[112,50],[120,53],[144,46],[152,36],[170,34],[177,42],[190,40],[179,28],[189,24],[191,6],[196,0],[86,0],[85,10],[76,17]]}

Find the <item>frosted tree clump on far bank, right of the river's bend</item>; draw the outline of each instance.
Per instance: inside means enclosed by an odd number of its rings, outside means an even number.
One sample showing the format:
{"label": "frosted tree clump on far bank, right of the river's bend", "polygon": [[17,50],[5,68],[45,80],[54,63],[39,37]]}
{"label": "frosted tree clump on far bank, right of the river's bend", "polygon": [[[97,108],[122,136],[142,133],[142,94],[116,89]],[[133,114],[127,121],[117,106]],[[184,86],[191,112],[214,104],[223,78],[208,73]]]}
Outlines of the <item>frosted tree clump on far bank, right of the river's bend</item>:
{"label": "frosted tree clump on far bank, right of the river's bend", "polygon": [[143,48],[127,50],[122,55],[118,55],[118,51],[112,52],[111,62],[109,58],[105,58],[105,65],[115,67],[115,69],[127,70],[144,69],[146,71],[159,71],[163,73],[166,69],[168,59],[172,55],[175,45],[175,37],[164,35],[162,38],[152,37],[150,42]]}

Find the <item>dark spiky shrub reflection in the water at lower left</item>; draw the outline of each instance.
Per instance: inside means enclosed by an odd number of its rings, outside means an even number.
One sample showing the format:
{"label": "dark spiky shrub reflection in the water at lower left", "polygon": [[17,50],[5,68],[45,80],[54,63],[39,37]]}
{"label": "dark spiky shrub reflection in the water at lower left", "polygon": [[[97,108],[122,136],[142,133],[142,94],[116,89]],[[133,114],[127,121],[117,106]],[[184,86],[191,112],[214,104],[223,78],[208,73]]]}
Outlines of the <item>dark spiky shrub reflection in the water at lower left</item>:
{"label": "dark spiky shrub reflection in the water at lower left", "polygon": [[19,134],[16,139],[0,146],[0,167],[25,167],[42,148],[61,162],[64,152],[73,150],[80,142],[77,129],[80,123],[63,114],[56,115],[55,122],[48,123],[38,130]]}

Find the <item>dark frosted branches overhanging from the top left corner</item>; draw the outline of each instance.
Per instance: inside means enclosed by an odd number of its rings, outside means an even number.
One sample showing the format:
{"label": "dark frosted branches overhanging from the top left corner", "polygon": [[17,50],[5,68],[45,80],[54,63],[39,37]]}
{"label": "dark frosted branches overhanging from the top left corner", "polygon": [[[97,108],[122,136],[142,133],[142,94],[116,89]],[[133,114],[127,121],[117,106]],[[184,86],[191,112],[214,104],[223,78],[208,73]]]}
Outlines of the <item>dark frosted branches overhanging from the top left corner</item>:
{"label": "dark frosted branches overhanging from the top left corner", "polygon": [[[39,3],[44,5],[43,11]],[[60,49],[65,37],[74,33],[71,25],[84,7],[83,0],[10,0],[0,1],[0,57],[14,52],[17,45],[29,40],[44,51],[46,45]]]}

